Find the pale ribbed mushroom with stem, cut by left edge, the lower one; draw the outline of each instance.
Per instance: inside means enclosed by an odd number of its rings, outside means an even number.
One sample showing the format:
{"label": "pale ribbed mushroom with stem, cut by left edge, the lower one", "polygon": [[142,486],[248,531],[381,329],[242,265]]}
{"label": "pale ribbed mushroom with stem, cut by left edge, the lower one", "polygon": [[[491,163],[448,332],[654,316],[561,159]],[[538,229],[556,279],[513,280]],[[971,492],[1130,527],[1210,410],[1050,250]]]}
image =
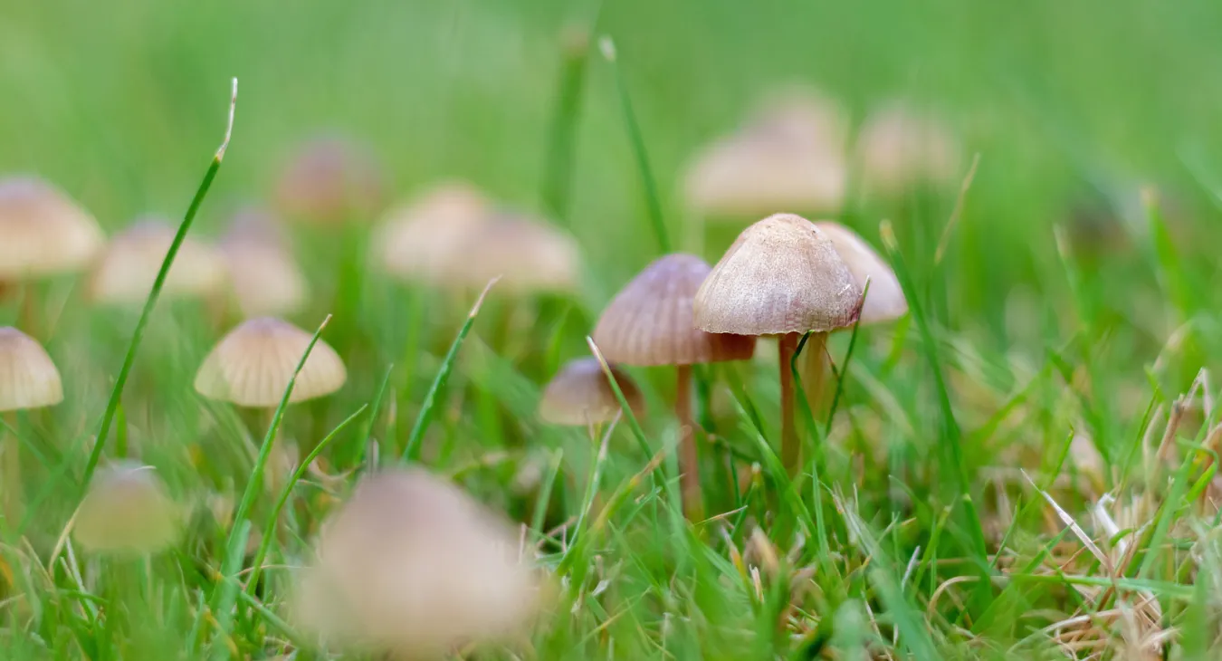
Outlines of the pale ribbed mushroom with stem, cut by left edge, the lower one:
{"label": "pale ribbed mushroom with stem, cut by left edge, the lower one", "polygon": [[[64,401],[60,370],[55,368],[46,349],[33,337],[20,330],[0,327],[0,441],[5,428],[17,430],[17,412],[55,406]],[[21,503],[21,442],[16,435],[0,442],[0,501],[9,518],[10,528],[17,519]]]}

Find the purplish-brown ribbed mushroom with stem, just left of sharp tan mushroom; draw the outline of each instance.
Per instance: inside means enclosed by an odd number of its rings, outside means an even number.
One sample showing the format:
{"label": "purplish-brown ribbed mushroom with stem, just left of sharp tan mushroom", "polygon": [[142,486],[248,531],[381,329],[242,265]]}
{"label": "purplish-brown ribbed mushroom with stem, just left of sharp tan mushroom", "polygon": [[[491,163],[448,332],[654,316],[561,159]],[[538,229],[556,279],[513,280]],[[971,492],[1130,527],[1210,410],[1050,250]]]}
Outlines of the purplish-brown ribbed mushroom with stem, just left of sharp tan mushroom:
{"label": "purplish-brown ribbed mushroom with stem, just left of sharp tan mushroom", "polygon": [[655,260],[616,294],[594,329],[607,360],[627,365],[675,365],[675,414],[679,420],[679,473],[688,516],[703,509],[700,455],[692,420],[692,365],[747,360],[755,337],[711,334],[692,321],[692,299],[712,268],[689,254]]}

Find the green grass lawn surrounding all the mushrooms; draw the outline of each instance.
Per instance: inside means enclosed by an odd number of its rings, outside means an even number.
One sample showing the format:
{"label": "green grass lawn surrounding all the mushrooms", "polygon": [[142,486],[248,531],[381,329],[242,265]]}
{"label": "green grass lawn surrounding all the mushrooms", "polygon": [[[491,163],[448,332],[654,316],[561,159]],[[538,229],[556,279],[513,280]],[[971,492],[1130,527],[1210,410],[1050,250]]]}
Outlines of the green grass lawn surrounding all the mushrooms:
{"label": "green grass lawn surrounding all the mushrooms", "polygon": [[[527,643],[470,657],[1216,655],[1218,18],[1206,2],[6,6],[0,89],[21,103],[0,108],[0,171],[44,173],[109,230],[187,206],[176,246],[215,236],[295,142],[335,128],[379,147],[396,192],[470,178],[563,216],[588,260],[578,296],[491,287],[486,316],[474,294],[365,269],[337,292],[360,303],[348,331],[320,329],[348,386],[282,406],[262,444],[192,390],[221,331],[200,310],[94,310],[75,279],[39,285],[67,398],[0,423],[27,475],[24,519],[0,528],[0,657],[320,659],[286,606],[293,568],[356,477],[401,459],[521,523],[562,585]],[[565,51],[573,22],[623,57]],[[200,184],[232,75],[242,112]],[[700,370],[709,518],[688,523],[666,370],[633,370],[650,414],[596,440],[534,406],[590,353],[610,296],[687,236],[686,160],[792,79],[843,98],[854,127],[893,95],[943,110],[974,176],[851,198],[841,220],[885,248],[912,315],[829,341],[835,417],[808,425],[821,448],[803,475],[774,450],[775,356]],[[1084,200],[1113,219],[1103,235]],[[327,291],[340,255],[313,259]],[[326,301],[295,321],[342,312]],[[20,305],[0,298],[0,323]],[[269,492],[273,441],[306,459]],[[121,452],[187,513],[182,541],[138,562],[66,530]]]}

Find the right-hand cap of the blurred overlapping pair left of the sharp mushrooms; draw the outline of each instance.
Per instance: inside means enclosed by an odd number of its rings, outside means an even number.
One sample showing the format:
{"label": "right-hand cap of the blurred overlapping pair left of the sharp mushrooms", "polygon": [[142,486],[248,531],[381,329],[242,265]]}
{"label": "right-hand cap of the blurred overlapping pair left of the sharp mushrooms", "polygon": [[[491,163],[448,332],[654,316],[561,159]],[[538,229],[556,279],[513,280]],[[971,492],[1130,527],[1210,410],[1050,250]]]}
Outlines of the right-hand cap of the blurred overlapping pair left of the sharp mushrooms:
{"label": "right-hand cap of the blurred overlapping pair left of the sharp mushrooms", "polygon": [[580,252],[568,233],[522,214],[494,215],[469,235],[448,280],[479,290],[500,276],[497,291],[517,294],[577,288]]}

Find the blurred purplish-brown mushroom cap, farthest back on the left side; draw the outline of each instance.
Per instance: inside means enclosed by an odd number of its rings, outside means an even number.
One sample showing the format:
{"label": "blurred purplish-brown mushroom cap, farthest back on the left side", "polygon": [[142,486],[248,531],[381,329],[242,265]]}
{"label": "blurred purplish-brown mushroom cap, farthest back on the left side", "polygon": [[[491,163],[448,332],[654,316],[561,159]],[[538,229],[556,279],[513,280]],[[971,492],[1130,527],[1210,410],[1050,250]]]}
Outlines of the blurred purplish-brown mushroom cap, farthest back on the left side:
{"label": "blurred purplish-brown mushroom cap, farthest back on the left side", "polygon": [[381,166],[368,148],[316,138],[288,161],[276,183],[276,200],[293,221],[369,221],[381,205],[382,187]]}

